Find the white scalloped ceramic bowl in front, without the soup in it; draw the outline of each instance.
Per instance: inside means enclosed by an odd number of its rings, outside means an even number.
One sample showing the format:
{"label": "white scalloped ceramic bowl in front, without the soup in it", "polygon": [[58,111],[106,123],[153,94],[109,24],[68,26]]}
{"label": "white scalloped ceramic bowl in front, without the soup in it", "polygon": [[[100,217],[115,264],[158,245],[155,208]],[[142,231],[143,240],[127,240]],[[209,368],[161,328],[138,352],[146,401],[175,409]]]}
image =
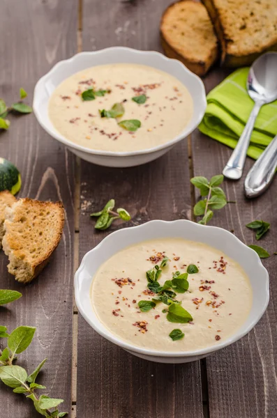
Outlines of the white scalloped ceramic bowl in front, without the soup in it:
{"label": "white scalloped ceramic bowl in front, without the soup in it", "polygon": [[[220,249],[220,251],[233,258],[234,261],[237,261],[244,268],[253,289],[253,306],[245,323],[229,339],[218,343],[216,346],[202,348],[201,350],[165,353],[139,348],[126,343],[100,323],[100,320],[93,312],[90,300],[90,288],[94,274],[100,265],[117,253],[117,251],[129,245],[155,238],[184,238],[204,242],[207,245],[211,245],[211,247]],[[217,228],[216,226],[203,226],[183,219],[173,222],[156,220],[140,226],[115,231],[100,242],[97,247],[91,249],[84,256],[80,267],[75,273],[75,300],[80,314],[98,334],[117,344],[117,346],[124,348],[129,353],[153,362],[186,363],[201,359],[220,350],[220,348],[229,346],[252,330],[264,314],[269,303],[269,274],[255,251],[244,245],[225,229]]]}

